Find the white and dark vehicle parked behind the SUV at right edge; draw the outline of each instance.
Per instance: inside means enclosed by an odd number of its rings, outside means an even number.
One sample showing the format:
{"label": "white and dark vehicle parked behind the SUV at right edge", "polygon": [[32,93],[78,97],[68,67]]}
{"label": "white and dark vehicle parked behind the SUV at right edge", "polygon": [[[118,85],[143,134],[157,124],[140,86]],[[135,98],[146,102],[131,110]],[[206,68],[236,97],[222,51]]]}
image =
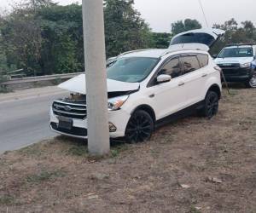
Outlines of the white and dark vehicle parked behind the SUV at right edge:
{"label": "white and dark vehicle parked behind the SUV at right edge", "polygon": [[222,68],[227,82],[241,82],[248,87],[256,87],[256,76],[253,74],[255,60],[256,43],[240,43],[222,49],[215,62]]}

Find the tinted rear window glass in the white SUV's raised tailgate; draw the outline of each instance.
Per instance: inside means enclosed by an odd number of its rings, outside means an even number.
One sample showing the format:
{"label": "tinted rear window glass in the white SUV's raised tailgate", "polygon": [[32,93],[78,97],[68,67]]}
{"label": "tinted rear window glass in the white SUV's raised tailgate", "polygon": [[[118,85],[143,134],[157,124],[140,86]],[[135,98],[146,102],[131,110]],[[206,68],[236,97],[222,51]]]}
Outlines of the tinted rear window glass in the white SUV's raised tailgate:
{"label": "tinted rear window glass in the white SUV's raised tailgate", "polygon": [[179,37],[172,39],[171,44],[178,43],[203,43],[207,46],[211,46],[215,41],[214,37],[207,33],[187,33]]}

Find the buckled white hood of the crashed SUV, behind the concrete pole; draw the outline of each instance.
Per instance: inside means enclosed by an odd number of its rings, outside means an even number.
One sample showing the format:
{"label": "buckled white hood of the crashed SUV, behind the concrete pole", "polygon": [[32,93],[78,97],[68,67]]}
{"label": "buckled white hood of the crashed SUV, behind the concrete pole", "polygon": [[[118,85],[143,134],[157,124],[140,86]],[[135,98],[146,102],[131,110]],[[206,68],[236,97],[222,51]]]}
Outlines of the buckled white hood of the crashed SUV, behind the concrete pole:
{"label": "buckled white hood of the crashed SUV, behind the concrete pole", "polygon": [[[139,89],[139,83],[126,83],[107,79],[108,92],[128,92]],[[80,74],[58,85],[61,89],[67,89],[70,92],[86,95],[85,74]]]}

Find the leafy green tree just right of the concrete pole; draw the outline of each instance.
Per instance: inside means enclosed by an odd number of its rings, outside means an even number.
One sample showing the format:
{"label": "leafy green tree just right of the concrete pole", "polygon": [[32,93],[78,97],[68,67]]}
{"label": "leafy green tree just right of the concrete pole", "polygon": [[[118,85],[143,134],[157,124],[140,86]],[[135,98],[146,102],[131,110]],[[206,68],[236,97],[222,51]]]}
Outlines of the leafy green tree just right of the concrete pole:
{"label": "leafy green tree just right of the concrete pole", "polygon": [[106,0],[104,2],[107,56],[115,56],[132,49],[150,45],[150,29],[133,8],[133,0]]}

